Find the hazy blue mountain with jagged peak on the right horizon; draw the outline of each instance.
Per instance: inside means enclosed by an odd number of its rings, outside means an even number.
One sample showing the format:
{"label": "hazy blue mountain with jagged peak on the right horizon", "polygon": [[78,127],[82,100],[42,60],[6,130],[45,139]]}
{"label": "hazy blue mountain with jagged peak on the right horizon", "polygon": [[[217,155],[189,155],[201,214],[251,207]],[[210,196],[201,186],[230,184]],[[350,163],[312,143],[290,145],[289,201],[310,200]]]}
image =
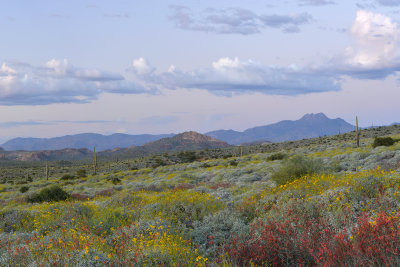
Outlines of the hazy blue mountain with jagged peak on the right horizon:
{"label": "hazy blue mountain with jagged peak on the right horizon", "polygon": [[323,113],[306,114],[299,120],[284,120],[274,124],[258,126],[243,132],[233,130],[218,130],[206,135],[239,145],[258,141],[283,142],[304,138],[313,138],[324,135],[345,133],[355,130],[355,126],[343,119],[329,119]]}

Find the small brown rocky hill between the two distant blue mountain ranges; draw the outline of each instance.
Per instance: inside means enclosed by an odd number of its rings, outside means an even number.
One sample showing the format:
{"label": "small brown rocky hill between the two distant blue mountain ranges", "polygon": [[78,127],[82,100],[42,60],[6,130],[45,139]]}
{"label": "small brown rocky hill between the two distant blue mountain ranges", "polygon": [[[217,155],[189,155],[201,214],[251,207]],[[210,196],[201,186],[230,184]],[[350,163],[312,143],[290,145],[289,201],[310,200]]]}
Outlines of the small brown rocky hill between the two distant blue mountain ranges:
{"label": "small brown rocky hill between the two distant blue mountain ranges", "polygon": [[144,144],[142,148],[150,152],[166,152],[223,148],[228,146],[229,144],[226,142],[190,131]]}

